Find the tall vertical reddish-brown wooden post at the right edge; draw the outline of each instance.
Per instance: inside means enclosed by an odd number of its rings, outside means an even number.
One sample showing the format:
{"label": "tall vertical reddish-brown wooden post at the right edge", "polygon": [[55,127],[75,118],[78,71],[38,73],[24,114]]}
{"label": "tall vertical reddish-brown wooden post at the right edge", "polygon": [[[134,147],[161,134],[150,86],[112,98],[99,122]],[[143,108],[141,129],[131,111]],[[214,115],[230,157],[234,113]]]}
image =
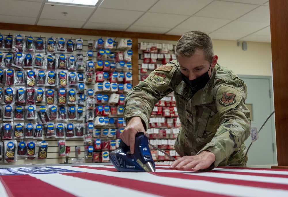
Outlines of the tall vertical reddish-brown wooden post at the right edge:
{"label": "tall vertical reddish-brown wooden post at the right edge", "polygon": [[288,166],[288,1],[269,1],[278,166]]}

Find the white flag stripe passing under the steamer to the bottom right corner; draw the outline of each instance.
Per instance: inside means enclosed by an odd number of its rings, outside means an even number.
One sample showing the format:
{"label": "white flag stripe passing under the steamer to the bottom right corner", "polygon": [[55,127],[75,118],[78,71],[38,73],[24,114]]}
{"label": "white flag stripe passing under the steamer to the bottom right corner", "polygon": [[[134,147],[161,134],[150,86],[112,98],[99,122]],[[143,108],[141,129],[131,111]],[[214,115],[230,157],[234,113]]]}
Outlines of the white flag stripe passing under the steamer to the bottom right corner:
{"label": "white flag stripe passing under the steamer to the bottom right corner", "polygon": [[[93,167],[93,166],[90,166]],[[94,166],[98,167],[98,165]],[[247,197],[247,196],[255,196],[255,197],[270,197],[270,196],[288,196],[288,191],[278,190],[278,189],[266,189],[266,188],[257,188],[253,186],[239,186],[233,184],[220,184],[211,181],[203,181],[203,180],[187,180],[187,179],[179,179],[179,178],[170,178],[170,177],[159,177],[150,173],[135,173],[131,172],[111,172],[106,170],[95,170],[95,169],[86,169],[86,168],[77,168],[70,166],[61,166],[61,168],[76,170],[82,172],[89,172],[95,174],[102,174],[113,177],[127,178],[132,180],[141,180],[150,183],[163,184],[167,186],[174,186],[190,190],[198,190],[202,192],[211,192],[215,194],[224,194],[231,196],[239,196],[239,197]],[[158,171],[158,170],[157,170]],[[187,171],[186,171],[187,172]]]}

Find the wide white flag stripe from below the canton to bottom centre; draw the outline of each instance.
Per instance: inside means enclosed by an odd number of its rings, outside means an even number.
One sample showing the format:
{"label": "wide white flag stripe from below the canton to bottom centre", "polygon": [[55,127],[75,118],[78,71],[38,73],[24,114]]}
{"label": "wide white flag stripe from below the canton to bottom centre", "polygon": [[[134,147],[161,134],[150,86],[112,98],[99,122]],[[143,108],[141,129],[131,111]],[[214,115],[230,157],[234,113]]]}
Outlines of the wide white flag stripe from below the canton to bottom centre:
{"label": "wide white flag stripe from below the canton to bottom centre", "polygon": [[[115,192],[116,196],[157,196],[149,193],[144,193],[136,190],[130,190],[119,186],[113,186],[111,184],[105,184],[97,181],[91,181],[78,177],[66,176],[62,174],[30,174],[41,181],[44,181],[52,186],[55,186],[61,190],[69,192],[75,196],[110,196],[111,192]],[[141,186],[139,186],[141,187]],[[144,187],[144,186],[143,186]],[[91,190],[92,189],[92,190]],[[95,190],[94,190],[95,189]],[[91,192],[94,191],[94,192]],[[93,194],[93,195],[92,195]],[[2,196],[1,196],[2,197]]]}

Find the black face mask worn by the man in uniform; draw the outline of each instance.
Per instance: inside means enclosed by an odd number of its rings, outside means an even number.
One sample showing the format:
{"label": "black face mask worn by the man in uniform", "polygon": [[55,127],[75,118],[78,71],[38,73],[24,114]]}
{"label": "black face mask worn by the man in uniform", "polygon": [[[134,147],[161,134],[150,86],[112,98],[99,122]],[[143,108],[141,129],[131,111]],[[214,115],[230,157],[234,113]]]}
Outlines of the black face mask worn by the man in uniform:
{"label": "black face mask worn by the man in uniform", "polygon": [[[211,67],[211,64],[210,64]],[[210,69],[209,67],[209,69]],[[208,71],[209,71],[208,69]],[[206,84],[208,83],[208,81],[210,80],[208,71],[206,73],[204,73],[203,75],[201,75],[200,77],[193,79],[193,80],[189,80],[187,77],[185,77],[182,73],[182,80],[187,84],[187,86],[189,86],[191,88],[191,90],[194,91],[198,91],[202,88],[204,88],[206,86]],[[212,74],[212,69],[211,69],[211,74]]]}

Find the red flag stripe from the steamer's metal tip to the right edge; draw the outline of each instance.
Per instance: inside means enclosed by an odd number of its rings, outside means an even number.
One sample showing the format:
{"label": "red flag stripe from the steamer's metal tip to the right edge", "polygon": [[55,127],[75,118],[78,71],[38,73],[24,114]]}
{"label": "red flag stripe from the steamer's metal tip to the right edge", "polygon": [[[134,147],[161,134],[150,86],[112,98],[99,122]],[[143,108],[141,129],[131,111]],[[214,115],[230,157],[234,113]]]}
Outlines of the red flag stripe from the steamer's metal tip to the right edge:
{"label": "red flag stripe from the steamer's metal tip to the right edge", "polygon": [[177,173],[177,172],[150,172],[150,173],[157,175],[157,176],[161,176],[161,177],[189,179],[189,180],[203,180],[203,181],[211,181],[211,182],[223,183],[223,184],[234,184],[234,185],[251,186],[251,187],[259,187],[259,188],[288,190],[288,185],[286,184],[265,183],[265,182],[259,182],[259,181],[247,181],[247,180],[218,178],[218,177],[206,177],[206,176],[198,176],[198,175],[195,175],[194,173],[191,175],[184,174],[184,173]]}

